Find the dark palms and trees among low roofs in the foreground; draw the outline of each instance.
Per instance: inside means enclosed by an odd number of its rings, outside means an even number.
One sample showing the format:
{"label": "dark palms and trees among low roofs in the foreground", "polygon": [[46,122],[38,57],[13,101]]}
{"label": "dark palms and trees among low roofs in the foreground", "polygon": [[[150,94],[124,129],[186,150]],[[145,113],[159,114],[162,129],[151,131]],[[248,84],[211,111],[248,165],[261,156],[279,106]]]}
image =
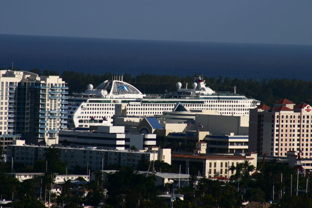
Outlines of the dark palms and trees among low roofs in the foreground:
{"label": "dark palms and trees among low roofs in the foreground", "polygon": [[[0,162],[0,167],[7,167],[0,169],[0,195],[7,200],[13,198],[14,207],[42,207],[38,198],[34,197],[34,185],[35,183],[41,184],[41,198],[47,200],[50,195],[44,193],[48,193],[51,189],[53,183],[51,174],[63,172],[63,163],[58,160],[58,154],[59,152],[55,148],[49,148],[45,153],[45,161],[48,161],[48,163],[54,162],[56,169],[53,169],[54,167],[49,169],[49,166],[47,166],[44,176],[23,182],[19,182],[10,175],[1,174],[4,170],[6,172],[11,170],[8,168],[10,164],[4,165],[4,162]],[[149,162],[141,160],[136,170],[147,171],[148,167]],[[111,168],[109,167],[109,169]],[[30,169],[33,169],[33,167]],[[81,170],[79,167],[74,169],[76,171]],[[177,208],[241,207],[243,201],[262,203],[272,201],[273,198],[273,207],[306,207],[304,202],[310,201],[310,190],[312,190],[312,183],[310,183],[308,175],[299,175],[299,191],[298,196],[296,196],[297,172],[294,168],[283,165],[277,160],[270,162],[263,160],[258,164],[257,168],[248,161],[241,162],[235,167],[230,166],[230,177],[227,181],[198,178],[197,170],[193,168],[190,170],[188,186],[181,187],[173,186],[172,183],[156,186],[156,178],[151,169],[148,177],[145,174],[139,174],[134,167],[118,167],[118,170],[115,173],[108,173],[105,180],[103,180],[101,171],[96,172],[95,181],[90,181],[80,187],[80,189],[91,190],[85,197],[73,195],[71,181],[64,181],[61,194],[51,194],[51,201],[59,207],[80,207],[82,203],[96,207],[104,202],[103,207],[166,208],[170,206],[170,201],[166,201],[158,197],[158,195],[168,192],[184,195],[183,201],[179,199],[174,201],[173,207]],[[175,165],[169,165],[161,161],[155,162],[154,170],[157,172],[178,172]],[[255,170],[257,170],[256,174],[250,175]],[[306,186],[307,180],[308,186]],[[106,200],[105,189],[108,191]]]}

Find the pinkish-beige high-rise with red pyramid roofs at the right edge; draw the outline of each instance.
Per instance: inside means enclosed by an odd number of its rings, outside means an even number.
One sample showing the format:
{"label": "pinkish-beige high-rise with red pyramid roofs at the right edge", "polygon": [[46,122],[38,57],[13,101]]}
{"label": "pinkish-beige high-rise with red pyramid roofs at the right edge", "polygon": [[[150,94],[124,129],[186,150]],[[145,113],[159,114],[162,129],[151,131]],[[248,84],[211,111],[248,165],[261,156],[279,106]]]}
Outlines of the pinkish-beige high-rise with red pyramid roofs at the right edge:
{"label": "pinkish-beige high-rise with red pyramid roofs at the right edge", "polygon": [[306,103],[282,99],[273,108],[259,105],[249,114],[248,150],[260,155],[286,157],[287,151],[298,151],[312,158],[312,108]]}

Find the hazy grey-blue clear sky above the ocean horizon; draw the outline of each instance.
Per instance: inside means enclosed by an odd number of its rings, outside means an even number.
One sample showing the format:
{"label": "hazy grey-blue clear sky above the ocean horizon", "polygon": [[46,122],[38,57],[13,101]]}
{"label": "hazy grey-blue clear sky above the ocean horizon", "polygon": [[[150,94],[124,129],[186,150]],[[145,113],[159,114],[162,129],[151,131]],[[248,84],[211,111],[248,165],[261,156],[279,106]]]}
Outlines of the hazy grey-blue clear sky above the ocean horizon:
{"label": "hazy grey-blue clear sky above the ocean horizon", "polygon": [[0,34],[312,45],[311,0],[1,0]]}

